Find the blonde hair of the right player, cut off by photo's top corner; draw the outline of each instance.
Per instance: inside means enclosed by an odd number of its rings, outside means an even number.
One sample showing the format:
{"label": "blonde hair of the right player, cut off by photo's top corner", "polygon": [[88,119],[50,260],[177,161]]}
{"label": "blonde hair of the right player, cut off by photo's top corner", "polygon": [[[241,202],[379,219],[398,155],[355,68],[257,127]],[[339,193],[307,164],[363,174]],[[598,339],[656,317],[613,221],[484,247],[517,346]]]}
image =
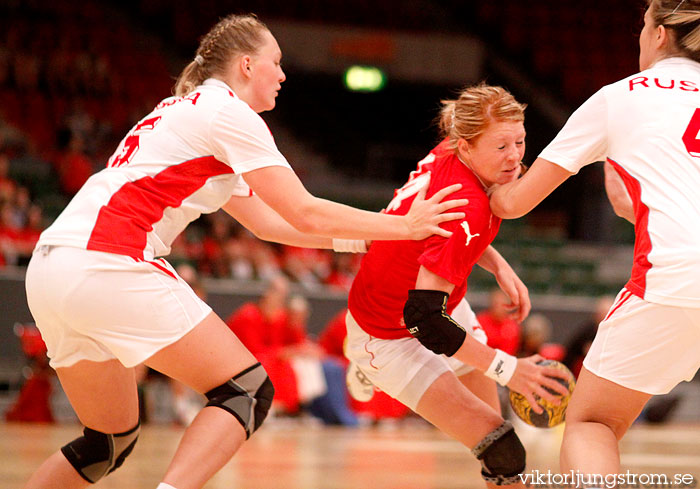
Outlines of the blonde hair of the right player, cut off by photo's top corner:
{"label": "blonde hair of the right player, cut off by photo's top corner", "polygon": [[700,0],[649,0],[654,25],[673,33],[678,54],[700,62]]}

